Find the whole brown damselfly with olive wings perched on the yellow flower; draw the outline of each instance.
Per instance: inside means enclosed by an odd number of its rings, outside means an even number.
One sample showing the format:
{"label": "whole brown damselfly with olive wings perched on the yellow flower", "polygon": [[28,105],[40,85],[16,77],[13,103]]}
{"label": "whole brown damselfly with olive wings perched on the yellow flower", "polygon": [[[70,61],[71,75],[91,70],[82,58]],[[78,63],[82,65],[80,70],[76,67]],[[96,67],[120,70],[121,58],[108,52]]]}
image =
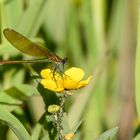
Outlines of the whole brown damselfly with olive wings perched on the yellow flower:
{"label": "whole brown damselfly with olive wings perched on the yellow flower", "polygon": [[5,38],[19,51],[28,54],[30,56],[38,57],[40,59],[34,60],[6,60],[0,61],[0,64],[20,64],[20,63],[43,63],[43,62],[53,62],[56,64],[54,71],[62,64],[67,63],[68,58],[60,58],[55,53],[51,52],[49,49],[40,46],[39,44],[32,42],[25,36],[16,32],[13,29],[6,28],[3,31]]}

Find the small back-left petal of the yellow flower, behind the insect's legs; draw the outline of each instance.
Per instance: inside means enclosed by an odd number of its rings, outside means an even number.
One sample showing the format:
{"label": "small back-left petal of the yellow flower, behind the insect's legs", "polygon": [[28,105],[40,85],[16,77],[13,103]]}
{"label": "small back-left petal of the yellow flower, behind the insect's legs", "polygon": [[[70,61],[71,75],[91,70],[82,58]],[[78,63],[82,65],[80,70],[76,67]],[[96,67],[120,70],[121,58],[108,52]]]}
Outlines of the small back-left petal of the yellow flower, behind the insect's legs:
{"label": "small back-left petal of the yellow flower, behind the insect's legs", "polygon": [[58,73],[56,73],[56,72],[53,73],[53,71],[51,69],[43,69],[40,74],[41,74],[42,78],[47,79],[47,80],[53,79],[56,81],[61,78],[61,76]]}

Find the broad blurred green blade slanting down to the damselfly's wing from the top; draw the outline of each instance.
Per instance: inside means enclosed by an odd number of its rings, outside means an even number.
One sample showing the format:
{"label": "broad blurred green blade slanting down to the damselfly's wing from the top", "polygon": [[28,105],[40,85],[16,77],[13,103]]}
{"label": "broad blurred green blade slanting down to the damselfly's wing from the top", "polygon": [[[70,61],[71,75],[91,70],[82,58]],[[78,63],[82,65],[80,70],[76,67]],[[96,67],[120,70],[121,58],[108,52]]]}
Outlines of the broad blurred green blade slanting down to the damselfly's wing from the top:
{"label": "broad blurred green blade slanting down to the damselfly's wing from the top", "polygon": [[[32,36],[33,33],[35,35],[38,29],[40,28],[40,25],[42,22],[42,19],[39,19],[39,16],[41,14],[40,12],[42,12],[42,8],[44,4],[45,4],[44,0],[30,1],[30,4],[28,5],[27,9],[21,16],[21,19],[19,21],[19,25],[16,31],[19,31],[25,36],[29,36],[29,35]],[[30,22],[27,22],[27,21],[30,21]],[[37,24],[37,27],[36,27],[36,24]],[[36,32],[34,30],[36,30]]]}

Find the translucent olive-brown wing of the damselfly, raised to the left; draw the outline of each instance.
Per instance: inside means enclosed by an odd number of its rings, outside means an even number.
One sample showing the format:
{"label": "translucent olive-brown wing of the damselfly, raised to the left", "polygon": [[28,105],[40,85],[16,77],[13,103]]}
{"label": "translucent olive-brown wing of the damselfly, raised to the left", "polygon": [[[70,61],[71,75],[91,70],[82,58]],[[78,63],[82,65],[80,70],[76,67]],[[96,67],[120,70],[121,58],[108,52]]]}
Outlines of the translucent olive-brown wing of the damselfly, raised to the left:
{"label": "translucent olive-brown wing of the damselfly, raised to the left", "polygon": [[31,56],[42,58],[52,57],[53,53],[46,48],[30,41],[28,38],[12,29],[5,29],[4,36],[18,50]]}

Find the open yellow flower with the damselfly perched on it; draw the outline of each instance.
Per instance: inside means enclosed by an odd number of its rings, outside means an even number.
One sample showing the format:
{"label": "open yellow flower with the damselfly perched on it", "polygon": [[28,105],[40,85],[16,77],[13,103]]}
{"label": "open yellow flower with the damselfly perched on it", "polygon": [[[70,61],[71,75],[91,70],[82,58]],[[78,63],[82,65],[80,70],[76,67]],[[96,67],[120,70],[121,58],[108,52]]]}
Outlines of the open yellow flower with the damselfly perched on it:
{"label": "open yellow flower with the damselfly perched on it", "polygon": [[63,75],[51,71],[50,69],[43,69],[41,71],[41,84],[44,88],[52,90],[54,92],[63,92],[64,90],[74,90],[86,86],[92,76],[89,76],[86,80],[82,80],[85,73],[82,69],[72,67],[64,72]]}

